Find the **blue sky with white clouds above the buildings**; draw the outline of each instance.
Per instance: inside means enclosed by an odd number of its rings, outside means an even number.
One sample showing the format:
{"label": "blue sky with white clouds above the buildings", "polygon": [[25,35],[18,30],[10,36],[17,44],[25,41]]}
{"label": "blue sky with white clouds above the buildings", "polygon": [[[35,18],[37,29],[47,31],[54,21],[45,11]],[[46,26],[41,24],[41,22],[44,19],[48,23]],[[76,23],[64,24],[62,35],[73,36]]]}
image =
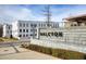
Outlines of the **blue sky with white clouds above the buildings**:
{"label": "blue sky with white clouds above the buildings", "polygon": [[[46,21],[46,4],[0,4],[0,23],[14,21]],[[63,18],[86,14],[86,4],[50,4],[51,21],[64,22]]]}

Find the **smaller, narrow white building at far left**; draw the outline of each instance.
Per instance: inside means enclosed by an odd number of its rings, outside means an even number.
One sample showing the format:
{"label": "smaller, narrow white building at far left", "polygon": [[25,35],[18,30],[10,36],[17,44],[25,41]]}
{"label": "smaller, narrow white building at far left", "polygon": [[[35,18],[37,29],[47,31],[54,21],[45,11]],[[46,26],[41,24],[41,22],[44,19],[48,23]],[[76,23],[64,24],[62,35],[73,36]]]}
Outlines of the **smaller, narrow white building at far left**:
{"label": "smaller, narrow white building at far left", "polygon": [[2,37],[12,37],[12,25],[3,24],[3,35]]}

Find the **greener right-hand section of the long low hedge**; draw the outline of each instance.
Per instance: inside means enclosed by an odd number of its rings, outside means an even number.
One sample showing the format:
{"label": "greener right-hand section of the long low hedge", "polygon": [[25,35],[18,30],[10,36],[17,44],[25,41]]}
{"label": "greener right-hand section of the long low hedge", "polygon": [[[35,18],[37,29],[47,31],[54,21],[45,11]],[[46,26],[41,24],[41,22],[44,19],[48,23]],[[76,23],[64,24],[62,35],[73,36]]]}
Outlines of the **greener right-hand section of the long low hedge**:
{"label": "greener right-hand section of the long low hedge", "polygon": [[79,59],[84,59],[85,54],[76,51],[52,49],[52,55],[61,59],[79,60]]}

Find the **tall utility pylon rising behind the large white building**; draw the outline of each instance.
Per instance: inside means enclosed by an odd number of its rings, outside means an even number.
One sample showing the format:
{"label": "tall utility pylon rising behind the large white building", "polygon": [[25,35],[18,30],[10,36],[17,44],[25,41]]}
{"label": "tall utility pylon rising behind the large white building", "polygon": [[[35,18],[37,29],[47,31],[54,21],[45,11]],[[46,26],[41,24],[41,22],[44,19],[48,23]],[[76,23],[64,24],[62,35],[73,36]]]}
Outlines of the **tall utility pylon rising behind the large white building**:
{"label": "tall utility pylon rising behind the large white building", "polygon": [[45,7],[45,10],[44,10],[44,15],[46,16],[47,18],[47,26],[50,27],[50,22],[51,22],[51,11],[50,11],[50,5],[46,5]]}

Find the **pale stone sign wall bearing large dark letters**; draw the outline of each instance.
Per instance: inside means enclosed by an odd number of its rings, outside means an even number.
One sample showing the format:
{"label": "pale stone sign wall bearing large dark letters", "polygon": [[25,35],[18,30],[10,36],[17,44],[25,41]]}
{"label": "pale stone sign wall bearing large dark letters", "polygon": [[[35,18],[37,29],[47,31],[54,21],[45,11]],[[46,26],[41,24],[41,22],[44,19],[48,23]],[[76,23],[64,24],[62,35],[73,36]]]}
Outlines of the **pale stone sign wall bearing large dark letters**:
{"label": "pale stone sign wall bearing large dark letters", "polygon": [[86,39],[86,28],[39,28],[38,38],[46,40],[85,40]]}

